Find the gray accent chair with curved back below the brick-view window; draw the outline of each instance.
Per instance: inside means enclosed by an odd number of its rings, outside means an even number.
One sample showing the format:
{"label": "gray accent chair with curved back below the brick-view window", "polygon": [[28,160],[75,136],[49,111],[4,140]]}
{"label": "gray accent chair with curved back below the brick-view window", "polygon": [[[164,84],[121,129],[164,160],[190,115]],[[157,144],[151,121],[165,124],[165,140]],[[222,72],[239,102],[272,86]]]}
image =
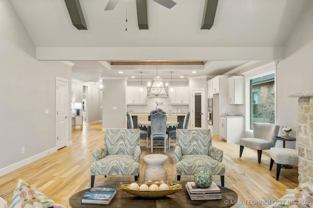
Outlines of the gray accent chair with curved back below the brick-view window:
{"label": "gray accent chair with curved back below the brick-view window", "polygon": [[244,147],[252,148],[258,151],[258,162],[261,163],[262,150],[269,150],[275,147],[276,140],[272,139],[277,136],[279,125],[268,123],[253,123],[253,138],[240,139],[240,153],[242,156]]}

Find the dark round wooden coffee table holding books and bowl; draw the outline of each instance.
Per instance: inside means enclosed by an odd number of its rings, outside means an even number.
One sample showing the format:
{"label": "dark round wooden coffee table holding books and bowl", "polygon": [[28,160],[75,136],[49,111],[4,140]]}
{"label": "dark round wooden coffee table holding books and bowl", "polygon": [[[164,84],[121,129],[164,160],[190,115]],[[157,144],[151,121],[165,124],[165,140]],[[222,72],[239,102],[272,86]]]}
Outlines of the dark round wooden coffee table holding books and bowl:
{"label": "dark round wooden coffee table holding books and bowl", "polygon": [[[173,181],[181,184],[182,190],[168,196],[159,198],[143,198],[134,196],[120,190],[121,183],[105,185],[108,188],[116,188],[117,192],[108,207],[114,208],[229,208],[236,204],[238,195],[235,191],[219,186],[222,192],[222,200],[199,200],[191,201],[185,188],[185,181]],[[104,205],[81,204],[80,199],[89,189],[79,191],[69,198],[71,208],[103,208]],[[226,203],[225,203],[226,201]],[[230,203],[231,202],[231,203]]]}

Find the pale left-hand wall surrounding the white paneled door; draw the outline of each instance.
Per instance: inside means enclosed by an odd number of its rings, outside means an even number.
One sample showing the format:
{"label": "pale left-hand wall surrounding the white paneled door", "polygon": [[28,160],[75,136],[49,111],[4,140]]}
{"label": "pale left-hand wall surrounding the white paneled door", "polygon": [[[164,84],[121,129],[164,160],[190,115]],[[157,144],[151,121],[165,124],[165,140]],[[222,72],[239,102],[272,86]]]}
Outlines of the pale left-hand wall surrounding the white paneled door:
{"label": "pale left-hand wall surrounding the white paneled door", "polygon": [[[70,95],[71,67],[59,61],[35,59],[35,46],[9,0],[0,1],[0,25],[0,175],[3,175],[56,151],[56,76],[68,79]],[[70,144],[70,131],[68,138]]]}

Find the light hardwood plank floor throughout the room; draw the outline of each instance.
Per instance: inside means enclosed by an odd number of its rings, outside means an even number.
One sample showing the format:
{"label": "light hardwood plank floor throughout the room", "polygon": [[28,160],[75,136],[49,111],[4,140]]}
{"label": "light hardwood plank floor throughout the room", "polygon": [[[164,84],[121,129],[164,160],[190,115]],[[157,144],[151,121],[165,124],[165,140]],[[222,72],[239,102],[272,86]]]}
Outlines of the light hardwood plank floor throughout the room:
{"label": "light hardwood plank floor throughout the room", "polygon": [[[101,128],[102,123],[86,125],[83,130],[77,128],[72,131],[72,145],[1,176],[0,196],[9,203],[18,179],[22,178],[52,200],[69,207],[69,197],[89,184],[89,167],[93,161],[91,152],[104,144],[105,132]],[[237,192],[247,207],[267,207],[268,205],[255,204],[268,203],[264,200],[277,200],[285,194],[286,189],[298,186],[297,168],[282,169],[279,181],[276,181],[276,164],[269,171],[270,157],[267,153],[263,153],[261,164],[258,164],[257,151],[245,148],[242,158],[239,158],[238,144],[225,143],[218,137],[213,137],[212,140],[213,146],[224,151],[225,183]],[[142,158],[150,153],[150,149],[141,147],[139,180],[143,180],[146,168]],[[163,153],[163,149],[154,149],[154,153]],[[166,152],[169,160],[165,162],[165,168],[169,180],[176,180],[173,153],[174,147]],[[181,176],[181,180],[192,178],[193,176]],[[134,180],[134,176],[96,176],[95,180]]]}

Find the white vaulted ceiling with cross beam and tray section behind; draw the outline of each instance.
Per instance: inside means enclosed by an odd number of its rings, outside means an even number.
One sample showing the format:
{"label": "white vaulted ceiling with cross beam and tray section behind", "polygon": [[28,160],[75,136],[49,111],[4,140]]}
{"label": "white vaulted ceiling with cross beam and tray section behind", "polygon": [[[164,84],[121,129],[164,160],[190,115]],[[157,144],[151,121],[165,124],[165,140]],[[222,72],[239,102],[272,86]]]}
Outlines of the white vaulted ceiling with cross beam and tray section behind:
{"label": "white vaulted ceiling with cross beam and tray section behind", "polygon": [[[212,28],[201,30],[205,0],[174,1],[177,4],[167,9],[147,0],[149,30],[139,30],[135,0],[120,0],[112,11],[104,11],[108,0],[80,0],[88,30],[77,30],[64,0],[11,0],[38,48],[37,58],[72,61],[73,77],[83,81],[132,73],[138,77],[139,71],[149,78],[156,70],[147,65],[106,67],[98,61],[208,61],[202,67],[158,66],[164,76],[174,70],[178,78],[224,74],[249,60],[279,59],[283,51],[277,56],[274,52],[284,47],[308,2],[219,0]],[[121,70],[123,75],[118,74]]]}

